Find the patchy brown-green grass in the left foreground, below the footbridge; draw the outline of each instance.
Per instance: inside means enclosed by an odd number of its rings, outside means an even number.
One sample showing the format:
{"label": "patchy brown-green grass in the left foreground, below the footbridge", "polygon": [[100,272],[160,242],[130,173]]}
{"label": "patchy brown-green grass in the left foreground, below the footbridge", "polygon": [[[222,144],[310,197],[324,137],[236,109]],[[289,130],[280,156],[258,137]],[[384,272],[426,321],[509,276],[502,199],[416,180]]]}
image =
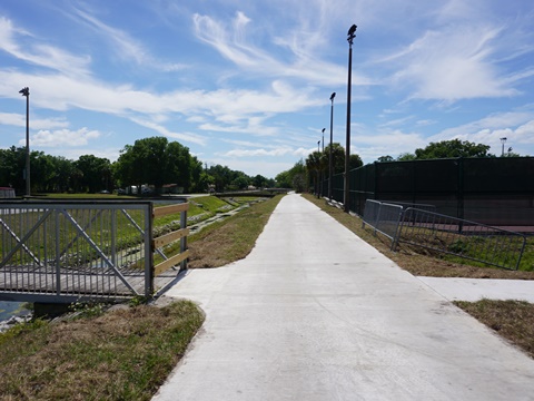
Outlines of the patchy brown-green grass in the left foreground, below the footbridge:
{"label": "patchy brown-green grass in the left foreground, below the footbridge", "polygon": [[1,400],[150,400],[204,315],[188,301],[0,335]]}

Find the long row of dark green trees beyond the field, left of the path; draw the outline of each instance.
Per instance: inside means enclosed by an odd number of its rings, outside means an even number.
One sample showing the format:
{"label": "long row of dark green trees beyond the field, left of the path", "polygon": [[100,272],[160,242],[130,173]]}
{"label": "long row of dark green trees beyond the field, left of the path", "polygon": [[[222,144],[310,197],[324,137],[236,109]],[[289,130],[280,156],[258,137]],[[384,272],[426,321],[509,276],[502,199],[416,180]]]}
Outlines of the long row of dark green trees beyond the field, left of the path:
{"label": "long row of dark green trees beyond the field, left of the path", "polygon": [[[23,194],[26,147],[0,149],[0,186]],[[165,137],[138,139],[126,145],[117,162],[93,155],[77,160],[30,151],[31,193],[97,193],[116,188],[150,185],[161,192],[175,184],[185,193],[246,189],[249,186],[271,187],[274,179],[248,176],[227,166],[206,166],[189,148]]]}

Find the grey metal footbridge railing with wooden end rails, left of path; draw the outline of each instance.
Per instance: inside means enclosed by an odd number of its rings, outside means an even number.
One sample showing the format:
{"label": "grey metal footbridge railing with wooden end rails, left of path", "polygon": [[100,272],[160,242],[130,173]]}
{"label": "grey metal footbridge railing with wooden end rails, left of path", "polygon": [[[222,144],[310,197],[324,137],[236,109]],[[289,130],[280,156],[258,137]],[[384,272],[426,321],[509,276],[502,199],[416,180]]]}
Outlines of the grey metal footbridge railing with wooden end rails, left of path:
{"label": "grey metal footbridge railing with wooden end rails, left of path", "polygon": [[[154,295],[176,278],[171,267],[186,267],[187,206],[2,202],[0,299],[69,303]],[[167,213],[180,214],[180,229],[154,238],[154,219]],[[180,253],[167,256],[166,248],[176,241]]]}

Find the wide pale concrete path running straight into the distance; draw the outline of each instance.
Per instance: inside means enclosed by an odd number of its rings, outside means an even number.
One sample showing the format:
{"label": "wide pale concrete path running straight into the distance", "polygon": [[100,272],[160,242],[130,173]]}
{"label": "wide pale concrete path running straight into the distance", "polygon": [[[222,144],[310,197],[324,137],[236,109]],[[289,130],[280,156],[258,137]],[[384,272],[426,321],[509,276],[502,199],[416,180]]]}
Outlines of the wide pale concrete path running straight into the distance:
{"label": "wide pale concrete path running straight into the distance", "polygon": [[298,195],[169,296],[204,327],[155,400],[532,400],[534,361]]}

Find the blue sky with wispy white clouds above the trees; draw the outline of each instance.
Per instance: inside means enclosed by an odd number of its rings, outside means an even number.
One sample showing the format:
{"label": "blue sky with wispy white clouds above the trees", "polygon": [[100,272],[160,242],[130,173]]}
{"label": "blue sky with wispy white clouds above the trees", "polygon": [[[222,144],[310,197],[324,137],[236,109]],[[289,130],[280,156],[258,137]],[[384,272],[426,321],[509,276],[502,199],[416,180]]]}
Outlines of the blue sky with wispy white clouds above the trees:
{"label": "blue sky with wispy white clouds above the trees", "polygon": [[[345,146],[365,163],[458,138],[534,156],[531,0],[0,2],[0,147],[116,160],[166,136],[275,177]],[[1,184],[1,183],[0,183]]]}

